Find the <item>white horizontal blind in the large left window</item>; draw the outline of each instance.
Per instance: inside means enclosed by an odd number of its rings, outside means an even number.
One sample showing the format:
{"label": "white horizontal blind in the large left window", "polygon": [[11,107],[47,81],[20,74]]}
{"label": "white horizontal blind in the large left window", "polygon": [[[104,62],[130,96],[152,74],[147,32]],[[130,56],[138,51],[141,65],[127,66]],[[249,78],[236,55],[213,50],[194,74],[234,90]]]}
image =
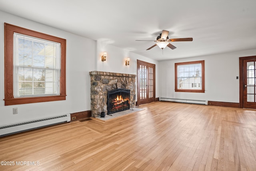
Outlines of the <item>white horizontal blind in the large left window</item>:
{"label": "white horizontal blind in the large left window", "polygon": [[60,43],[14,33],[14,98],[60,95]]}

